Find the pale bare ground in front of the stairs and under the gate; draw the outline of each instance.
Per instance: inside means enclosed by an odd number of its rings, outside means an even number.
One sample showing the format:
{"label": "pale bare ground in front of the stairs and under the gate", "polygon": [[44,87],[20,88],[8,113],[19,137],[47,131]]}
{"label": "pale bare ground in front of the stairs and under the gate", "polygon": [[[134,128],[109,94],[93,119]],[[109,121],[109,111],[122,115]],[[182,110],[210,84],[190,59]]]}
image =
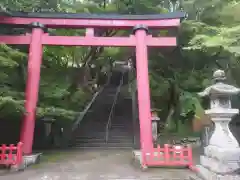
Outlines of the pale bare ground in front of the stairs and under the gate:
{"label": "pale bare ground in front of the stairs and under the gate", "polygon": [[0,180],[188,180],[186,169],[148,169],[141,172],[131,164],[131,150],[88,150],[65,152],[57,162],[15,174],[0,174]]}

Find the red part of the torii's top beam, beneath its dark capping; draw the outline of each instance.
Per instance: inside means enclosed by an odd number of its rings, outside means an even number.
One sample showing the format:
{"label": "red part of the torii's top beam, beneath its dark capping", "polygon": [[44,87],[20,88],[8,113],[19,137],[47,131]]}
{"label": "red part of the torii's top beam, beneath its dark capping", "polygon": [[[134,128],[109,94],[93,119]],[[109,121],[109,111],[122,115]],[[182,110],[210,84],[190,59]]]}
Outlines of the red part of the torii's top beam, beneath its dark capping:
{"label": "red part of the torii's top beam, beneath its dark capping", "polygon": [[0,24],[28,25],[32,22],[39,22],[50,28],[89,28],[106,27],[128,29],[136,25],[144,24],[149,28],[168,28],[180,26],[180,19],[164,20],[97,20],[97,19],[50,19],[50,18],[20,18],[20,17],[1,17]]}

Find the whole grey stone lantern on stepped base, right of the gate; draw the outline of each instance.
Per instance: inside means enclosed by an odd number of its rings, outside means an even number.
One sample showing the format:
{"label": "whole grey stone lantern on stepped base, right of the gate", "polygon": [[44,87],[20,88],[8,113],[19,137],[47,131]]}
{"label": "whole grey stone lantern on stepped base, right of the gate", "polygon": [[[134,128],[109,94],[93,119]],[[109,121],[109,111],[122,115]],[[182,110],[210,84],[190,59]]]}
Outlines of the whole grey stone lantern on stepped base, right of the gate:
{"label": "whole grey stone lantern on stepped base, right of the gate", "polygon": [[239,113],[231,108],[231,97],[240,89],[225,84],[226,76],[222,70],[213,74],[214,84],[199,93],[210,98],[210,109],[205,113],[215,124],[209,144],[197,165],[198,176],[204,180],[240,180],[240,148],[228,125],[232,117]]}

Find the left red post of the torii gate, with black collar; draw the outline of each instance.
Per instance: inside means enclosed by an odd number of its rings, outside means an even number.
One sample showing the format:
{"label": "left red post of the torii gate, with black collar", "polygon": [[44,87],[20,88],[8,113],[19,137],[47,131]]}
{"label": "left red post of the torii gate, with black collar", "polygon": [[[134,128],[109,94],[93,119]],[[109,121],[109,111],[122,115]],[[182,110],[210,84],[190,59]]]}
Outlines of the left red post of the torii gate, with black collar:
{"label": "left red post of the torii gate, with black collar", "polygon": [[28,78],[26,87],[25,117],[21,129],[23,153],[31,154],[35,128],[35,113],[38,101],[40,69],[42,63],[42,35],[44,26],[32,23],[32,35],[28,57]]}

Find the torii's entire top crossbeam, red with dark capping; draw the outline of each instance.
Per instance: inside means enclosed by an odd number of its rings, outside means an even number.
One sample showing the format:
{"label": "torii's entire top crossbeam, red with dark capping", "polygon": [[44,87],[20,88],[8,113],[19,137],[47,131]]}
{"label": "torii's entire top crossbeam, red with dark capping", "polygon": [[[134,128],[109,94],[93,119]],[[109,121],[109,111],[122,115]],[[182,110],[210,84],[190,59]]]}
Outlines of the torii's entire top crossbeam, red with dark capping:
{"label": "torii's entire top crossbeam, red with dark capping", "polygon": [[26,13],[0,14],[0,24],[26,26],[32,22],[44,24],[47,28],[121,28],[130,29],[144,24],[149,28],[178,27],[184,12],[152,15],[112,15],[74,13]]}

